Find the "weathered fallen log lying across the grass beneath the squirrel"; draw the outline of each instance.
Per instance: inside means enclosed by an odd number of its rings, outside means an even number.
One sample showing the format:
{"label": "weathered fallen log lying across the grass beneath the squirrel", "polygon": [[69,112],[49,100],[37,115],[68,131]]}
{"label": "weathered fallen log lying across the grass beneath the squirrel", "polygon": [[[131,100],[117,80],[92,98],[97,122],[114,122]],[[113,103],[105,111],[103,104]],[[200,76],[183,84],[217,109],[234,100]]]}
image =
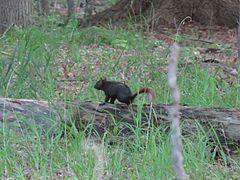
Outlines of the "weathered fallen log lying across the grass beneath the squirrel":
{"label": "weathered fallen log lying across the grass beneath the squirrel", "polygon": [[[97,102],[0,98],[0,124],[21,132],[33,125],[42,132],[54,132],[61,129],[61,124],[67,123],[100,136],[106,132],[127,135],[132,127],[141,127],[143,131],[149,131],[153,126],[169,127],[169,108],[170,105],[127,107],[124,104],[99,105]],[[240,109],[181,106],[180,113],[183,135],[191,137],[201,125],[209,136],[217,134],[220,142],[240,144]],[[212,130],[215,133],[211,134]]]}

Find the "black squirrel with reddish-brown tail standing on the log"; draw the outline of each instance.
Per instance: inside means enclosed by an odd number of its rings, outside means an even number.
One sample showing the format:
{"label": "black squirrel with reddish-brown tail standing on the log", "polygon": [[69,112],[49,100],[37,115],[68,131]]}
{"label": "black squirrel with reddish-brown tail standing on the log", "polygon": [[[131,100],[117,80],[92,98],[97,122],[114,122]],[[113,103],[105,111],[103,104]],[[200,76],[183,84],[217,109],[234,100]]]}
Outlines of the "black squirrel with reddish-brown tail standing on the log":
{"label": "black squirrel with reddish-brown tail standing on the log", "polygon": [[104,91],[106,95],[105,103],[110,100],[111,104],[114,104],[114,101],[117,99],[129,105],[133,102],[135,97],[141,93],[147,93],[151,101],[155,98],[155,93],[151,88],[142,87],[138,93],[132,94],[131,89],[126,84],[118,81],[108,81],[106,78],[101,78],[97,81],[94,88]]}

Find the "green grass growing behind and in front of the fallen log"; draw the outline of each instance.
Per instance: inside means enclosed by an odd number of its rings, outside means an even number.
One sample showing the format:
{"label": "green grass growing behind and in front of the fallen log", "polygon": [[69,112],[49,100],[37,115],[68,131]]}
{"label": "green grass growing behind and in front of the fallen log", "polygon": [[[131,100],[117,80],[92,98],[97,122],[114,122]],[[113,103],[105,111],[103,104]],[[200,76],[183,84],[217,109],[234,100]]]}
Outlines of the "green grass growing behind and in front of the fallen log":
{"label": "green grass growing behind and in front of the fallen log", "polygon": [[[134,92],[140,86],[151,86],[157,94],[155,103],[170,102],[164,70],[169,49],[154,49],[155,44],[163,42],[131,27],[78,29],[71,22],[62,28],[57,26],[58,22],[58,18],[49,16],[31,27],[13,28],[1,37],[0,51],[8,54],[0,54],[1,97],[102,101],[103,93],[93,86],[99,77],[106,76],[127,82]],[[184,64],[186,58],[192,61],[191,65]],[[217,75],[208,76],[207,69],[201,69],[194,58],[192,51],[183,49],[178,72],[181,103],[239,108],[239,79],[230,86],[218,80]],[[61,63],[66,63],[69,72],[74,73],[73,84],[65,81]],[[139,105],[143,102],[143,96],[135,101]],[[140,118],[137,116],[137,121]],[[6,171],[15,179],[24,179],[26,174],[48,179],[61,173],[70,179],[96,178],[95,154],[83,145],[84,133],[74,128],[70,131],[72,136],[62,138],[58,133],[42,137],[36,129],[31,135],[18,134],[1,124],[0,173]],[[106,143],[106,175],[113,179],[174,179],[166,129],[152,128],[149,137],[141,127],[133,128],[133,132],[134,141]],[[187,173],[191,179],[229,179],[232,171],[214,161],[207,142],[200,127],[194,141],[184,139]],[[237,176],[240,165],[236,163],[235,168]]]}

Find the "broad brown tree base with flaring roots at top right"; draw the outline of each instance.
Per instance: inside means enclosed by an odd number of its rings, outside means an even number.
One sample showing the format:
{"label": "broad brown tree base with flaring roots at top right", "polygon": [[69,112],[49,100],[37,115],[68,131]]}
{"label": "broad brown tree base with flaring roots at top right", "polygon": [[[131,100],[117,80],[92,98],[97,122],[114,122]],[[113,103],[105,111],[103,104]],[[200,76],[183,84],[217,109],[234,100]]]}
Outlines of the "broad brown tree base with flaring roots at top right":
{"label": "broad brown tree base with flaring roots at top right", "polygon": [[[239,0],[119,0],[114,6],[91,16],[92,24],[122,23],[144,16],[144,23],[175,27],[185,17],[206,25],[236,27]],[[154,28],[153,27],[153,28]]]}

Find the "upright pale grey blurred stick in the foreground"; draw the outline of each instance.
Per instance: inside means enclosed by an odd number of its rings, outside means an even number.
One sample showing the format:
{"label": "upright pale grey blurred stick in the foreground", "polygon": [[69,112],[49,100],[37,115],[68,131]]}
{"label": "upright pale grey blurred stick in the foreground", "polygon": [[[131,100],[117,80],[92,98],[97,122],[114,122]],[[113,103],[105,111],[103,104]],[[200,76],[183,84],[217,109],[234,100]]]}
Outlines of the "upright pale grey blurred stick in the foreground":
{"label": "upright pale grey blurred stick in the foreground", "polygon": [[180,94],[177,87],[177,58],[179,56],[179,46],[176,42],[170,47],[170,55],[168,57],[168,84],[172,93],[172,107],[169,108],[169,118],[172,120],[172,160],[173,169],[176,173],[176,179],[186,180],[188,175],[183,167],[183,155],[182,155],[182,141],[181,141],[181,129],[179,127],[179,101]]}

